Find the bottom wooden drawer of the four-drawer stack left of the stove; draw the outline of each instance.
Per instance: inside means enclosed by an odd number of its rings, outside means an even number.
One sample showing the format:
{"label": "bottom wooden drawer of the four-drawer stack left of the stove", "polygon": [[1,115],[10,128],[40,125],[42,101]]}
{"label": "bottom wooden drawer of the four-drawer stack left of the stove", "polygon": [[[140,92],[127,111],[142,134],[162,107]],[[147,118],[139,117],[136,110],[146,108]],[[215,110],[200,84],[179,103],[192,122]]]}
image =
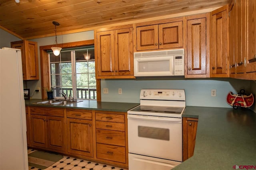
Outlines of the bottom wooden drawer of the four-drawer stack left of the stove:
{"label": "bottom wooden drawer of the four-drawer stack left of the stove", "polygon": [[126,163],[125,147],[97,143],[97,158]]}

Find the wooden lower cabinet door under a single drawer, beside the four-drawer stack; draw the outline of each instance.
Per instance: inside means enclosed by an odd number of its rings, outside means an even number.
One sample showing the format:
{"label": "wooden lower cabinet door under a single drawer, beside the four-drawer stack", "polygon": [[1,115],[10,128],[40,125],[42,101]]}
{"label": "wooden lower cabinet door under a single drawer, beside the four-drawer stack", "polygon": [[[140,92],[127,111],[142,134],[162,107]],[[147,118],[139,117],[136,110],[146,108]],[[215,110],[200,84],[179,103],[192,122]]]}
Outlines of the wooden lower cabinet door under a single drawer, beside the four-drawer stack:
{"label": "wooden lower cabinet door under a single drawer, beside the four-drawer stack", "polygon": [[68,152],[93,157],[92,121],[68,118]]}

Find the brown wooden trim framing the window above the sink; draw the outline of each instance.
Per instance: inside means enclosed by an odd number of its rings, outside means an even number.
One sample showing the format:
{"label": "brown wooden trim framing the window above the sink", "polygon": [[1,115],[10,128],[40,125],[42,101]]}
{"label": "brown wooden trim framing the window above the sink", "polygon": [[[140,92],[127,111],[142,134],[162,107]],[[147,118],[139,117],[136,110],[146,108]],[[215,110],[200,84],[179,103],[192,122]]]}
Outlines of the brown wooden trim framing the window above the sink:
{"label": "brown wooden trim framing the window above the sink", "polygon": [[[62,47],[62,49],[83,47],[83,46],[90,46],[90,45],[94,45],[94,39],[58,44],[58,46]],[[40,46],[41,86],[46,88],[50,88],[49,59],[48,59],[47,50],[50,50],[52,46],[53,45]],[[97,102],[100,102],[101,101],[100,79],[96,79],[96,92],[97,92]],[[45,90],[42,90],[42,99],[47,99],[47,93],[45,92]]]}

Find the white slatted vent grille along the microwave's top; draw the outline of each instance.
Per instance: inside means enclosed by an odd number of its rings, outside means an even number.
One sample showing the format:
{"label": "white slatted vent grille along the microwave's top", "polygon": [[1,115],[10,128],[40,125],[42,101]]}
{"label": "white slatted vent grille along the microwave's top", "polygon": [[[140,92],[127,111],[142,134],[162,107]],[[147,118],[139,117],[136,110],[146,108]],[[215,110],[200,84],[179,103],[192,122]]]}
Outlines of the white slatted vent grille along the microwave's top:
{"label": "white slatted vent grille along the microwave's top", "polygon": [[184,55],[184,49],[135,52],[134,57],[166,57],[170,55]]}

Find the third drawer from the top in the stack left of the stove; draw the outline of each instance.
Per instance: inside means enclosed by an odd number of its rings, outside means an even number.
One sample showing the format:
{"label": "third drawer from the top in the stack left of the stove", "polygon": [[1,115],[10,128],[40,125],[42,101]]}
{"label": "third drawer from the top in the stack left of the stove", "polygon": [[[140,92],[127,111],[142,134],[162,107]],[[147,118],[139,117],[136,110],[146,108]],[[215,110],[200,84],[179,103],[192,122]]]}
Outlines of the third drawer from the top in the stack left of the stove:
{"label": "third drawer from the top in the stack left of the stove", "polygon": [[125,147],[125,133],[96,129],[96,142]]}

